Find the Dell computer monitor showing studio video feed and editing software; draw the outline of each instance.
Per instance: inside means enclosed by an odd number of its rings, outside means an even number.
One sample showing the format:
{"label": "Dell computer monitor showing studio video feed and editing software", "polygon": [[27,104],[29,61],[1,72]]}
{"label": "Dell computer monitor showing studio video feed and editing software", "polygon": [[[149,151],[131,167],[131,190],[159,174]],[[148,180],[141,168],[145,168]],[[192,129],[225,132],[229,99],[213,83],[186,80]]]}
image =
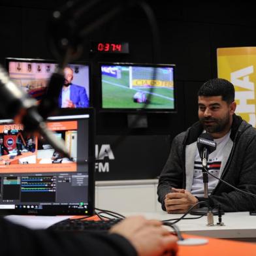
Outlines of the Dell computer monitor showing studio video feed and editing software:
{"label": "Dell computer monitor showing studio video feed and editing software", "polygon": [[48,118],[70,159],[43,138],[24,133],[22,124],[0,120],[0,214],[93,214],[93,116],[84,108]]}

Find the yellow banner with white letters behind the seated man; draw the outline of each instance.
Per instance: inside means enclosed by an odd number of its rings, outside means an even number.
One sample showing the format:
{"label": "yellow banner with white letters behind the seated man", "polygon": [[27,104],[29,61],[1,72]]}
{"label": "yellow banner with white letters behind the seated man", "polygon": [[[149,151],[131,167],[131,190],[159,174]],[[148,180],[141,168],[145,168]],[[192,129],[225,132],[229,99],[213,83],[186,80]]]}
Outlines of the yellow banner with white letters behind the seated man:
{"label": "yellow banner with white letters behind the seated man", "polygon": [[256,127],[256,47],[217,49],[217,73],[234,84],[236,114]]}

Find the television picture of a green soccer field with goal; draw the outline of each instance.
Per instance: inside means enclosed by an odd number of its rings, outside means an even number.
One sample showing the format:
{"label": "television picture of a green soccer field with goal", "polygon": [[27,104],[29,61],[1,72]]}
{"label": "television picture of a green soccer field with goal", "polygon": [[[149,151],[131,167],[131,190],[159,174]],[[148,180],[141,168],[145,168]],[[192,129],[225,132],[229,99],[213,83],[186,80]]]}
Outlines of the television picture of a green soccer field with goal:
{"label": "television picture of a green soccer field with goal", "polygon": [[175,65],[101,63],[103,109],[175,110]]}

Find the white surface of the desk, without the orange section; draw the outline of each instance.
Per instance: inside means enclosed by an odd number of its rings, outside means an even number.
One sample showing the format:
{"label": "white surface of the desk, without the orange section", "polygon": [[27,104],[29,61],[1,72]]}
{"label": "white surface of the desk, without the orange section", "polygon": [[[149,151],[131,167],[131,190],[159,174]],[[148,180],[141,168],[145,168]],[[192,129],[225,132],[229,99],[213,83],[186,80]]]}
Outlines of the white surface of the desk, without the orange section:
{"label": "white surface of the desk, without the orange section", "polygon": [[[148,219],[174,219],[182,214],[167,214],[166,212],[126,212],[124,216],[142,215]],[[46,229],[50,225],[67,219],[71,216],[6,216],[14,223],[24,225],[31,229]],[[187,215],[186,217],[197,217]],[[214,223],[218,222],[218,217],[214,216]],[[207,217],[200,219],[184,219],[176,226],[180,231],[199,236],[209,236],[214,238],[256,238],[256,216],[249,216],[249,212],[225,213],[222,216],[225,226],[208,227]]]}

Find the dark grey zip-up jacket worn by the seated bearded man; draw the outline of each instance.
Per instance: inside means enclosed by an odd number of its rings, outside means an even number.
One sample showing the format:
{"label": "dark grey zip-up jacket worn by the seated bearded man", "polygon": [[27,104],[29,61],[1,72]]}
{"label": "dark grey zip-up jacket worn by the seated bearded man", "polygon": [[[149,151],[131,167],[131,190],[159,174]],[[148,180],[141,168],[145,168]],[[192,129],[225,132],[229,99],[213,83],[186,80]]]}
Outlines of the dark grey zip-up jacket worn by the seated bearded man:
{"label": "dark grey zip-up jacket worn by the seated bearded man", "polygon": [[[170,193],[172,187],[191,190],[195,154],[191,156],[189,152],[195,146],[202,130],[202,125],[197,122],[172,141],[170,155],[157,187],[158,200],[163,210],[166,210],[165,195]],[[234,114],[230,138],[229,146],[226,152],[223,152],[221,179],[238,189],[256,195],[256,129]],[[217,183],[208,201],[212,207],[220,204],[225,212],[256,209],[256,196],[244,195],[223,182]]]}

